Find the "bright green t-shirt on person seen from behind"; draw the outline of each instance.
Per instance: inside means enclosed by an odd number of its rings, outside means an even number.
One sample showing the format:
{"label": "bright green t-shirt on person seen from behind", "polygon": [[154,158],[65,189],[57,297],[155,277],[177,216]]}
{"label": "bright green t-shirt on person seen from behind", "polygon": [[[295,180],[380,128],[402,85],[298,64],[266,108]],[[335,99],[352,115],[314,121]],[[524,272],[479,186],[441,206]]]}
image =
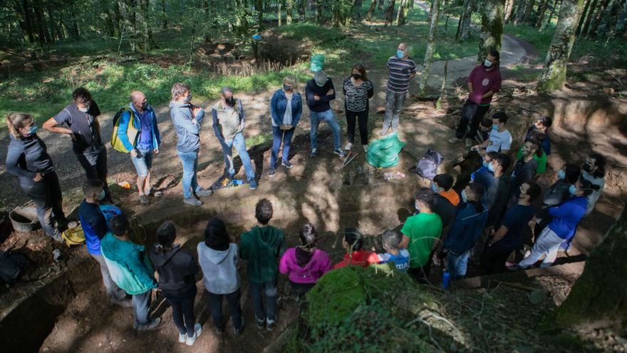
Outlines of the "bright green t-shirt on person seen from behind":
{"label": "bright green t-shirt on person seen from behind", "polygon": [[409,237],[409,267],[423,267],[429,260],[433,241],[442,234],[442,220],[435,213],[418,213],[405,221],[400,232]]}

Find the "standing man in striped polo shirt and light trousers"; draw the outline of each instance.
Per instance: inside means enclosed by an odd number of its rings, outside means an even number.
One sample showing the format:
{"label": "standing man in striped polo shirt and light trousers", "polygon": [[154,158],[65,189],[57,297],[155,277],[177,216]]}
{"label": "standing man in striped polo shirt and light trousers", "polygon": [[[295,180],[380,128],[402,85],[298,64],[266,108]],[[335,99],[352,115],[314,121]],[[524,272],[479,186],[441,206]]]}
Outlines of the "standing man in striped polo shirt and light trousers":
{"label": "standing man in striped polo shirt and light trousers", "polygon": [[408,55],[407,44],[398,44],[396,55],[388,59],[388,91],[385,92],[385,118],[383,118],[383,128],[379,133],[385,136],[388,130],[398,131],[398,121],[400,120],[400,110],[405,103],[405,96],[409,92],[409,81],[416,76],[418,67],[415,61]]}

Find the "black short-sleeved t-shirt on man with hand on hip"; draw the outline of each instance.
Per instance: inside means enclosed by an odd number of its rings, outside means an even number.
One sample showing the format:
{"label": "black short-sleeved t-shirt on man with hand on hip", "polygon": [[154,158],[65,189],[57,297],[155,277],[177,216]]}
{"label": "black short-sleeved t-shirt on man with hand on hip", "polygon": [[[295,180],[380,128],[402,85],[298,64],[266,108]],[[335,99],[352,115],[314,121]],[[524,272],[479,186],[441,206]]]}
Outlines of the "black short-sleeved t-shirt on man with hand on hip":
{"label": "black short-sleeved t-shirt on man with hand on hip", "polygon": [[87,148],[98,147],[103,144],[100,137],[100,128],[94,124],[95,118],[100,115],[100,109],[95,101],[91,101],[87,113],[78,110],[76,103],[70,103],[54,116],[59,125],[64,123],[74,133],[72,147],[74,152],[83,153]]}

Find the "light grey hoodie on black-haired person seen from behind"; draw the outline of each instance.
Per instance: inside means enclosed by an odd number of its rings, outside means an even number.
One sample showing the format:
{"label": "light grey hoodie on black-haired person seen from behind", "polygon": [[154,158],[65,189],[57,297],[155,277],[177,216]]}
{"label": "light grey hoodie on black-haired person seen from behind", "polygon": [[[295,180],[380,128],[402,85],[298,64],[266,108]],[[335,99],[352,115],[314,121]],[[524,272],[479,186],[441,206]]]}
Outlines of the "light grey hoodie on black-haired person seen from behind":
{"label": "light grey hoodie on black-haired person seen from behind", "polygon": [[202,280],[209,293],[226,295],[239,289],[237,274],[237,245],[231,243],[229,249],[219,251],[199,242],[198,262],[202,268]]}

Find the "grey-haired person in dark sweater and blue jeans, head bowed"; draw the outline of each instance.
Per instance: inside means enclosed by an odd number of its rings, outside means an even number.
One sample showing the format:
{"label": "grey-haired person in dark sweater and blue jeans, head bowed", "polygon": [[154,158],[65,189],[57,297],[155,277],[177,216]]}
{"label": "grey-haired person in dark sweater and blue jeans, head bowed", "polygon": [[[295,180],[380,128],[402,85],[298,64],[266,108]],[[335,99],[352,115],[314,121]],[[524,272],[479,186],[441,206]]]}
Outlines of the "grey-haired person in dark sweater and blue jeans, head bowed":
{"label": "grey-haired person in dark sweater and blue jeans, head bowed", "polygon": [[344,157],[346,153],[340,148],[340,125],[331,109],[331,101],[336,98],[333,80],[324,71],[316,71],[314,78],[307,81],[305,87],[309,118],[311,119],[311,158],[318,155],[318,126],[325,121],[333,133],[333,153]]}

